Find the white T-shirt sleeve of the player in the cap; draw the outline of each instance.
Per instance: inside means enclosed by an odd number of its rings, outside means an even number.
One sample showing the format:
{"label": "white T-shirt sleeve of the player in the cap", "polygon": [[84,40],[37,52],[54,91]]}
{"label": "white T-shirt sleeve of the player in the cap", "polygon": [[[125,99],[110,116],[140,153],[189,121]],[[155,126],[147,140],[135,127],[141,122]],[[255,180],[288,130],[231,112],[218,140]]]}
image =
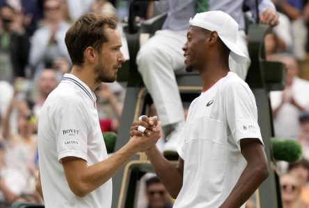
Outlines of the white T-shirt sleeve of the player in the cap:
{"label": "white T-shirt sleeve of the player in the cap", "polygon": [[257,138],[263,144],[258,125],[258,108],[246,83],[233,82],[226,87],[225,110],[228,126],[239,150],[240,139]]}

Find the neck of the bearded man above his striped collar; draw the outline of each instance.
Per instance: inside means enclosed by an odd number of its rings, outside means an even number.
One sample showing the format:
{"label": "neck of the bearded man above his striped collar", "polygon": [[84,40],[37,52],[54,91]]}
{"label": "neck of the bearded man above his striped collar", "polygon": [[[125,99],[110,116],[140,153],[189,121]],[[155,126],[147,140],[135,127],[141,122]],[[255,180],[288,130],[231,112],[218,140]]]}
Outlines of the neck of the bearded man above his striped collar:
{"label": "neck of the bearded man above his striped collar", "polygon": [[85,83],[92,92],[99,87],[100,83],[97,83],[95,74],[93,73],[93,70],[90,70],[90,67],[79,67],[77,65],[74,65],[72,67],[71,73],[79,78],[83,83]]}

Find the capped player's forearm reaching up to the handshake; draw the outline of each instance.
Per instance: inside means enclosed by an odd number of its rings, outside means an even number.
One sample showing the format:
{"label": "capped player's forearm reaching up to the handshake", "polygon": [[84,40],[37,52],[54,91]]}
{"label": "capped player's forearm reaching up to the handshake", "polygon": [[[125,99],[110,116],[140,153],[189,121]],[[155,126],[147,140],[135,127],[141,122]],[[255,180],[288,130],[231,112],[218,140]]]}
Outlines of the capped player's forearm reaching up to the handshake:
{"label": "capped player's forearm reaching up to the handshake", "polygon": [[168,193],[173,198],[177,198],[182,188],[183,160],[181,159],[181,162],[178,162],[178,166],[174,166],[165,159],[156,147],[148,149],[145,153],[150,159],[157,176],[168,189]]}

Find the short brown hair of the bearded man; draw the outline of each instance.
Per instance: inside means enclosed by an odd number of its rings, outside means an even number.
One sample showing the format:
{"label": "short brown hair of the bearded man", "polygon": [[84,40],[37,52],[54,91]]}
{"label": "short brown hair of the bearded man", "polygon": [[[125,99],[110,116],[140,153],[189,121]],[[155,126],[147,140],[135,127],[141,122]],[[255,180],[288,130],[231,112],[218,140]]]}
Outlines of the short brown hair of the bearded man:
{"label": "short brown hair of the bearded man", "polygon": [[95,13],[87,13],[71,26],[65,34],[65,44],[68,48],[72,64],[84,63],[84,51],[88,46],[101,51],[102,44],[107,42],[105,28],[116,29],[117,17]]}

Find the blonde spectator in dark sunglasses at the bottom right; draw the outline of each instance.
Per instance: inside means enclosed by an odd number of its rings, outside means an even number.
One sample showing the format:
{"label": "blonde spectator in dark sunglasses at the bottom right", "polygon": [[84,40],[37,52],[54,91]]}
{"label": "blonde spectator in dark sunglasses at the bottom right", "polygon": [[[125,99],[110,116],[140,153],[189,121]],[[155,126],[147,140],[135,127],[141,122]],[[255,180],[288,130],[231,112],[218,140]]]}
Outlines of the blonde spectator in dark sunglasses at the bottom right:
{"label": "blonde spectator in dark sunglasses at the bottom right", "polygon": [[280,176],[281,197],[283,208],[307,208],[301,200],[301,182],[292,173],[285,173]]}

